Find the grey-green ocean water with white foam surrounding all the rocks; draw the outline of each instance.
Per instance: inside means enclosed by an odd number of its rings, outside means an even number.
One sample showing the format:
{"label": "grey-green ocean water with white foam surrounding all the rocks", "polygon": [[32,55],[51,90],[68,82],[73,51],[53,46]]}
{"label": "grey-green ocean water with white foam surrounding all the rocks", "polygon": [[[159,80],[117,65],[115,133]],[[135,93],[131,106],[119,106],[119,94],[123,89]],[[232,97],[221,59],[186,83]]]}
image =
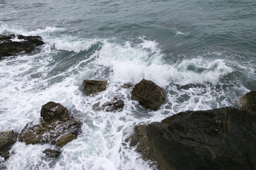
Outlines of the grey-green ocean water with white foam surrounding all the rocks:
{"label": "grey-green ocean water with white foam surrounding all the rocks", "polygon": [[[61,103],[82,134],[58,159],[52,145],[16,142],[6,169],[156,169],[125,139],[134,125],[181,111],[235,106],[256,90],[255,0],[0,0],[0,34],[40,35],[45,45],[0,61],[0,131],[40,121],[41,106]],[[107,79],[85,96],[83,79]],[[124,83],[154,81],[166,101],[150,111]],[[114,96],[122,112],[93,111]]]}

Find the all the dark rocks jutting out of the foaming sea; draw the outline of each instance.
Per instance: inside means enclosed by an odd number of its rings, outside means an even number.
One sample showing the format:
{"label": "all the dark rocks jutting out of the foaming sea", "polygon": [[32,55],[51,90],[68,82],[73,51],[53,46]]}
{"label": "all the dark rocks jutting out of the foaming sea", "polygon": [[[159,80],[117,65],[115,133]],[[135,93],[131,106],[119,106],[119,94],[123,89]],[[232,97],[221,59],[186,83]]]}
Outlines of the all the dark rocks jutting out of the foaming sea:
{"label": "all the dark rocks jutting out of the foaming sea", "polygon": [[[15,41],[18,40],[18,41]],[[31,52],[43,45],[39,36],[0,35],[0,59]],[[84,80],[86,96],[107,89],[107,80]],[[131,88],[131,98],[156,111],[166,100],[163,89],[153,81],[143,79]],[[149,125],[136,125],[126,140],[145,160],[156,162],[158,169],[256,169],[256,91],[250,91],[236,101],[238,107],[216,108],[208,111],[185,111]],[[95,111],[122,111],[125,103],[114,97]],[[41,108],[41,122],[28,123],[20,134],[9,130],[0,132],[0,156],[10,157],[9,150],[16,140],[26,145],[49,143],[46,157],[57,158],[60,148],[81,133],[82,123],[73,118],[60,103],[50,101]]]}

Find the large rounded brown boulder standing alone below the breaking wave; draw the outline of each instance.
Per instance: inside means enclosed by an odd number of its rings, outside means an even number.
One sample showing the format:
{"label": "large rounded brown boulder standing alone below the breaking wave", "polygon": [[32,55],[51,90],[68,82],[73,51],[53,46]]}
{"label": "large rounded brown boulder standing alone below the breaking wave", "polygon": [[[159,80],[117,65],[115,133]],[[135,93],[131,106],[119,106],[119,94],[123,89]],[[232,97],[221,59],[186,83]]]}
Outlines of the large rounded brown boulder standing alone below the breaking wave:
{"label": "large rounded brown boulder standing alone below the breaking wave", "polygon": [[145,80],[139,82],[132,89],[132,99],[139,101],[144,108],[156,110],[164,103],[164,91],[160,86],[154,84],[153,81]]}

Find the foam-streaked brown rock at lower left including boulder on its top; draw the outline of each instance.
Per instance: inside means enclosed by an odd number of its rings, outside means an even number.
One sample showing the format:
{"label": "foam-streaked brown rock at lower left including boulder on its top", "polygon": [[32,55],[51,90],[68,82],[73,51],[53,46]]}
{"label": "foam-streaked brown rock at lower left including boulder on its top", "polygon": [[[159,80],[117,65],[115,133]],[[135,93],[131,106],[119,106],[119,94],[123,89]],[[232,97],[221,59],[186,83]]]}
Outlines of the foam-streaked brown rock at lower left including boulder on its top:
{"label": "foam-streaked brown rock at lower left including boulder on its top", "polygon": [[[64,139],[66,135],[73,135],[73,140],[78,137],[81,132],[82,123],[80,120],[68,115],[68,109],[60,105],[60,103],[49,102],[42,106],[41,115],[43,120],[39,125],[28,123],[21,131],[18,140],[26,142],[26,145],[36,143],[50,143],[63,147],[68,142]],[[63,138],[64,137],[64,138]],[[61,140],[63,139],[63,140]],[[62,142],[59,142],[59,141]],[[58,143],[59,142],[59,143]]]}

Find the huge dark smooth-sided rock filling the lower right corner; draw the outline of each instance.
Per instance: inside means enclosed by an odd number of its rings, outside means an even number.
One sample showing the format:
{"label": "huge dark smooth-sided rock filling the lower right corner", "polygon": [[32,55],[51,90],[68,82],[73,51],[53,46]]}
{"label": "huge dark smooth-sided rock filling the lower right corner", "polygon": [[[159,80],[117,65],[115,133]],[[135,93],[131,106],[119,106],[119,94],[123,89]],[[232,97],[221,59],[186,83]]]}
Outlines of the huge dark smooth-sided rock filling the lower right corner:
{"label": "huge dark smooth-sided rock filling the lower right corner", "polygon": [[238,108],[186,111],[137,125],[130,146],[158,169],[256,169],[256,115]]}

